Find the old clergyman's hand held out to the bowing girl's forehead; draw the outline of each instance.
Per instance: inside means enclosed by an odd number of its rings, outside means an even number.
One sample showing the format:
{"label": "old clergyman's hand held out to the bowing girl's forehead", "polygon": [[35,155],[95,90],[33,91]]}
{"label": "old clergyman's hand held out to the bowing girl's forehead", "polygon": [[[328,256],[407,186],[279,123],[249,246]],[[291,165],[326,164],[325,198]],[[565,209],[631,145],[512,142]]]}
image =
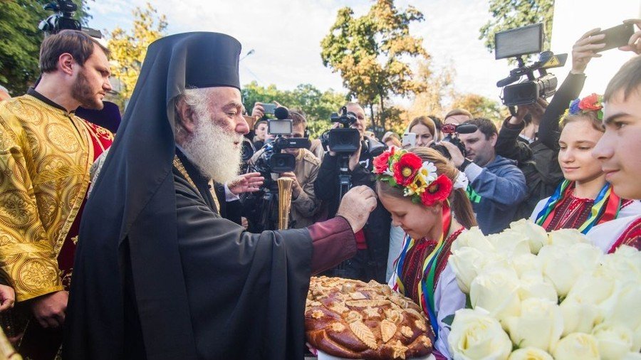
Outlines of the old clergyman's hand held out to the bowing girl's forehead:
{"label": "old clergyman's hand held out to the bowing girl's forehead", "polygon": [[355,186],[343,196],[336,216],[343,216],[354,233],[365,226],[370,213],[376,208],[376,194],[367,186]]}

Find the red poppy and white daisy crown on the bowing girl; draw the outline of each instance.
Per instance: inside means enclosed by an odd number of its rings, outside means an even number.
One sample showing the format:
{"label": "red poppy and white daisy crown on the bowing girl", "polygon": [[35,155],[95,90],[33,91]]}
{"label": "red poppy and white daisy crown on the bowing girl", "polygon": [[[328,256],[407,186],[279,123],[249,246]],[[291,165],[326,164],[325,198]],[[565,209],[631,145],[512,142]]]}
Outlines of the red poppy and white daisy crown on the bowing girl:
{"label": "red poppy and white daisy crown on the bowing girl", "polygon": [[403,196],[413,203],[433,206],[447,200],[452,193],[452,180],[438,175],[432,162],[423,162],[417,154],[391,147],[374,158],[374,174],[379,181],[403,189]]}

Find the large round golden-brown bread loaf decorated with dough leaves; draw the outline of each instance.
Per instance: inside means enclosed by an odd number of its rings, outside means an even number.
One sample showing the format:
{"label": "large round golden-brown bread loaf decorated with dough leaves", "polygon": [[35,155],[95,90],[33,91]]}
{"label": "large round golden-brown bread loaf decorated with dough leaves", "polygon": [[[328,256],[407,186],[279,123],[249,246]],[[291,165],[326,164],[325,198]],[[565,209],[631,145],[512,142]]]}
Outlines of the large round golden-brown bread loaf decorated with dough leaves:
{"label": "large round golden-brown bread loaf decorated with dough leaves", "polygon": [[420,307],[387,285],[312,277],[307,341],[348,359],[410,359],[432,353],[434,333]]}

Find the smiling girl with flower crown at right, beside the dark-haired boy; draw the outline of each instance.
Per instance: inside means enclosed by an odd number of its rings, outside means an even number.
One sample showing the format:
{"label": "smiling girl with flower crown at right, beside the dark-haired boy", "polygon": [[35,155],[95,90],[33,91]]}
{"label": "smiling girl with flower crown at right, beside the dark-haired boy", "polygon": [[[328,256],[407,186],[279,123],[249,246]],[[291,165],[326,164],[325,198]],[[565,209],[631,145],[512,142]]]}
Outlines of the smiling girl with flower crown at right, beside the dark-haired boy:
{"label": "smiling girl with flower crown at right, beside the dark-haired boy", "polygon": [[546,231],[575,228],[588,233],[600,223],[641,213],[638,201],[615,194],[605,181],[600,164],[592,157],[604,131],[601,99],[600,95],[592,94],[573,100],[561,119],[558,162],[565,179],[552,196],[537,204],[531,216]]}

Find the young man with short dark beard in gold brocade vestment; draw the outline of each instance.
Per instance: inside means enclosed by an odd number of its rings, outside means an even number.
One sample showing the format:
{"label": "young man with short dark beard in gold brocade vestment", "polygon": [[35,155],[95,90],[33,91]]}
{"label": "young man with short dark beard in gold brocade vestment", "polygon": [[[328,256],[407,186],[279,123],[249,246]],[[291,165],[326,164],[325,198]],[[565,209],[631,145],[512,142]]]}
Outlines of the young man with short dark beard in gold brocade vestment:
{"label": "young man with short dark beard in gold brocade vestment", "polygon": [[103,107],[108,51],[80,31],[43,41],[41,81],[0,103],[0,263],[16,310],[33,314],[21,353],[53,359],[62,341],[89,168],[113,135],[74,115]]}

